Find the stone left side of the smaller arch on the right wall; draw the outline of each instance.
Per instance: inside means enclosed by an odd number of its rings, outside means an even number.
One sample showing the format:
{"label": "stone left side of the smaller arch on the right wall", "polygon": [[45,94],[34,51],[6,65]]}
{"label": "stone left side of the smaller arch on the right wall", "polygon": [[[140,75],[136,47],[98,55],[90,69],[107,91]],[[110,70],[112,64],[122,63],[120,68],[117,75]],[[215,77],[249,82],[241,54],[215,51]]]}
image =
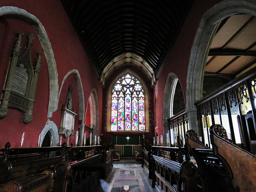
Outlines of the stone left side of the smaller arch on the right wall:
{"label": "stone left side of the smaller arch on the right wall", "polygon": [[169,123],[168,118],[172,116],[172,104],[174,99],[174,92],[176,84],[178,82],[178,77],[174,73],[169,73],[166,84],[164,87],[164,103],[163,103],[163,125],[164,125],[164,135],[168,133]]}

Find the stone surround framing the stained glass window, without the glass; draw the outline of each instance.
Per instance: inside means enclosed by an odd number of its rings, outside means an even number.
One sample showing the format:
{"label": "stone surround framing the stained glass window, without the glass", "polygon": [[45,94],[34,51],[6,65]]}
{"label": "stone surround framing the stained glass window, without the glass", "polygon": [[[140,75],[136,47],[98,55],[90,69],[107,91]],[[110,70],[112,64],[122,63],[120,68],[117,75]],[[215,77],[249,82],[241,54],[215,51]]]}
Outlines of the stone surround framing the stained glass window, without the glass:
{"label": "stone surround framing the stained glass window, without the glass", "polygon": [[112,88],[114,83],[118,80],[118,78],[120,78],[121,76],[123,76],[124,74],[126,74],[127,72],[131,73],[132,75],[134,75],[139,81],[140,83],[143,85],[143,89],[144,89],[144,94],[145,94],[145,124],[146,124],[146,132],[149,132],[149,92],[148,92],[148,88],[146,87],[146,84],[144,83],[144,81],[142,80],[142,78],[140,78],[140,76],[138,76],[135,72],[133,72],[130,69],[127,69],[125,71],[123,71],[122,73],[120,73],[118,76],[116,76],[116,78],[114,78],[114,80],[111,82],[109,88],[108,88],[108,92],[107,92],[107,118],[106,118],[106,127],[105,127],[105,131],[110,131],[110,126],[111,126],[111,92],[112,92]]}

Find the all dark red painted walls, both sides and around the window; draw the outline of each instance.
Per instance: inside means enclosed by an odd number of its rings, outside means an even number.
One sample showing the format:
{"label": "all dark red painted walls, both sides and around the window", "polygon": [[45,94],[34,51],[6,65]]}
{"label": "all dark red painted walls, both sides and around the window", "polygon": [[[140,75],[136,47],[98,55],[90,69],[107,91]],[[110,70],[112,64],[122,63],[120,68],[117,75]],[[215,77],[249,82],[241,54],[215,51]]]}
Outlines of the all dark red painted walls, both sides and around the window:
{"label": "all dark red painted walls, both sides and around the window", "polygon": [[[163,98],[164,87],[168,74],[173,72],[180,80],[183,94],[186,97],[186,78],[188,63],[190,58],[190,51],[194,41],[194,36],[198,29],[198,25],[204,13],[212,8],[216,3],[221,0],[194,0],[194,4],[188,17],[184,21],[184,24],[178,34],[178,38],[174,43],[168,58],[164,64],[164,67],[158,78],[158,82],[154,87],[154,90],[150,88],[150,82],[146,81],[146,78],[141,74],[139,70],[134,70],[147,84],[150,92],[150,128],[152,132],[146,135],[148,143],[152,143],[152,136],[158,131],[158,135],[163,134]],[[99,133],[102,128],[102,141],[106,144],[111,142],[111,133],[105,132],[106,127],[106,93],[110,82],[120,72],[126,70],[128,67],[122,68],[111,75],[112,78],[106,83],[106,88],[102,90],[102,87],[96,78],[96,74],[90,64],[88,56],[86,55],[84,48],[70,22],[62,4],[56,0],[1,0],[0,7],[2,6],[15,6],[26,10],[28,13],[34,15],[44,26],[48,38],[50,40],[54,58],[56,61],[58,72],[58,85],[59,89],[64,76],[73,69],[79,71],[82,79],[82,86],[84,90],[85,105],[88,101],[90,93],[93,88],[97,91],[98,106],[99,106]],[[32,32],[35,37],[33,27],[17,16],[1,16],[0,17],[0,89],[4,87],[4,80],[8,70],[9,57],[12,52],[13,44],[16,39],[15,34],[18,31],[24,33]],[[23,40],[25,42],[25,39]],[[22,44],[24,48],[24,43]],[[34,40],[33,50],[35,52],[42,51],[38,38]],[[35,52],[32,52],[33,60]],[[178,67],[177,67],[178,66]],[[60,114],[62,102],[66,99],[66,92],[68,85],[72,85],[74,89],[73,95],[73,108],[78,112],[78,93],[76,89],[76,83],[72,75],[70,75],[60,94],[60,101],[58,104],[58,110],[53,113],[51,121],[54,121],[57,126],[60,124]],[[38,140],[38,134],[44,128],[47,121],[48,104],[49,104],[49,74],[46,63],[45,55],[42,56],[41,72],[38,77],[38,84],[35,96],[33,120],[30,124],[23,124],[21,122],[22,112],[9,109],[8,116],[0,119],[0,148],[4,147],[7,141],[11,142],[12,147],[18,147],[22,132],[26,132],[24,147],[36,146]],[[104,106],[102,108],[102,106]],[[86,106],[85,106],[86,108]],[[78,116],[76,116],[75,130],[78,130]],[[157,127],[155,130],[154,128]],[[73,139],[74,140],[74,139]],[[64,140],[65,141],[65,140]],[[72,141],[74,142],[74,141]]]}

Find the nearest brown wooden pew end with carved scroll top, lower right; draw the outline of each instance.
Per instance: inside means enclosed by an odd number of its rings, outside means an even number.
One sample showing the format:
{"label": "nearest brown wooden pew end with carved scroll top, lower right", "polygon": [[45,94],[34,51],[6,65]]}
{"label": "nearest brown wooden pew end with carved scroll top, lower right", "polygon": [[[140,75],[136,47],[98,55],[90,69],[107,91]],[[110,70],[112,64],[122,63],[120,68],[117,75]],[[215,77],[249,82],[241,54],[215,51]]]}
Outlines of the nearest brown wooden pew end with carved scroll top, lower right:
{"label": "nearest brown wooden pew end with carved scroll top, lower right", "polygon": [[210,140],[213,153],[224,159],[230,167],[232,186],[240,192],[256,191],[256,158],[255,155],[234,145],[220,124],[210,127]]}

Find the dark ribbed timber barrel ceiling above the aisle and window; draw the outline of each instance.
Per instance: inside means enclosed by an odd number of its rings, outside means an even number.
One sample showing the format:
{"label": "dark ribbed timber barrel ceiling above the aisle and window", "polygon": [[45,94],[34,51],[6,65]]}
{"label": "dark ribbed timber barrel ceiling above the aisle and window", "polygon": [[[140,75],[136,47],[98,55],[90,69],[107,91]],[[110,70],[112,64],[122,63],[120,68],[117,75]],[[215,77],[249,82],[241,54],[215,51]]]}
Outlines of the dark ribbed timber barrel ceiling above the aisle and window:
{"label": "dark ribbed timber barrel ceiling above the aisle and window", "polygon": [[120,55],[131,58],[122,64],[150,66],[144,71],[153,85],[192,2],[62,0],[103,86],[104,69]]}

